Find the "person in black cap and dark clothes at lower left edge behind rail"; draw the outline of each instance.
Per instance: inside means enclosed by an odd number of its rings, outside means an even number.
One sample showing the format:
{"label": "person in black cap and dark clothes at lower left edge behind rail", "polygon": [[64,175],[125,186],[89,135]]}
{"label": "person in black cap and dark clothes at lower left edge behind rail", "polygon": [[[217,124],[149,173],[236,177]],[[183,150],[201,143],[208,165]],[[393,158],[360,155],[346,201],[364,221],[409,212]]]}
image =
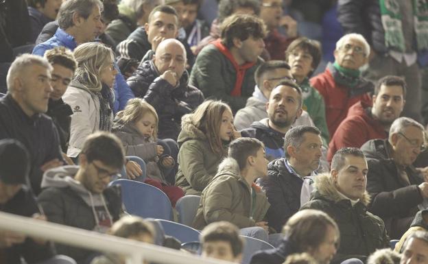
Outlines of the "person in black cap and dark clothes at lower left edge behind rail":
{"label": "person in black cap and dark clothes at lower left edge behind rail", "polygon": [[[28,184],[29,153],[19,141],[0,140],[0,211],[35,219],[45,219]],[[19,160],[19,165],[16,161]],[[45,219],[46,220],[46,219]],[[36,263],[49,259],[53,252],[41,239],[0,231],[0,252],[2,263]]]}

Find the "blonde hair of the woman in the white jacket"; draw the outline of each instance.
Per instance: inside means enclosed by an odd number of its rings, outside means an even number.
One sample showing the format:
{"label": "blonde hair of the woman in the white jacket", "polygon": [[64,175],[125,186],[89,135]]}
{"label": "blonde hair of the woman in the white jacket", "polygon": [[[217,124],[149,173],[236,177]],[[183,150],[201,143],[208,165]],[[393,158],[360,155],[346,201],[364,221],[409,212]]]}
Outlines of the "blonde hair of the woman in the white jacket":
{"label": "blonde hair of the woman in the white jacket", "polygon": [[115,62],[112,49],[102,43],[83,43],[75,48],[73,55],[78,62],[74,79],[92,92],[101,91],[101,74]]}

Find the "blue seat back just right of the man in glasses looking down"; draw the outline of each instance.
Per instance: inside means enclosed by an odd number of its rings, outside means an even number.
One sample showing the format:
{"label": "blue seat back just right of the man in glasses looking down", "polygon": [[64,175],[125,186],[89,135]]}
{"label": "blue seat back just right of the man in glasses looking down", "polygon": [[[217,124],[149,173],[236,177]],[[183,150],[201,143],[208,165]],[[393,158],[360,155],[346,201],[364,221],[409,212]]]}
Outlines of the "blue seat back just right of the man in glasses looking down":
{"label": "blue seat back just right of the man in glasses looking down", "polygon": [[110,185],[120,185],[126,211],[139,217],[172,220],[171,202],[163,191],[152,185],[134,180],[119,179]]}

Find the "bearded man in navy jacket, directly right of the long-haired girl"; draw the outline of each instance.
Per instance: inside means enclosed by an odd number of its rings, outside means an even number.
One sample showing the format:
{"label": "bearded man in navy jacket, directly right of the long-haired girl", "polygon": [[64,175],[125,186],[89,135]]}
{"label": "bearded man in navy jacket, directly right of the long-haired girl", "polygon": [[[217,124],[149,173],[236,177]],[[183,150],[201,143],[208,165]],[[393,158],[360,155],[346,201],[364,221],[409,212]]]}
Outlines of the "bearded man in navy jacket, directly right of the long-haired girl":
{"label": "bearded man in navy jacket, directly right of the long-haired girl", "polygon": [[241,136],[257,138],[265,144],[268,160],[284,156],[284,136],[302,114],[302,91],[295,82],[283,80],[272,90],[266,103],[268,118],[241,130]]}

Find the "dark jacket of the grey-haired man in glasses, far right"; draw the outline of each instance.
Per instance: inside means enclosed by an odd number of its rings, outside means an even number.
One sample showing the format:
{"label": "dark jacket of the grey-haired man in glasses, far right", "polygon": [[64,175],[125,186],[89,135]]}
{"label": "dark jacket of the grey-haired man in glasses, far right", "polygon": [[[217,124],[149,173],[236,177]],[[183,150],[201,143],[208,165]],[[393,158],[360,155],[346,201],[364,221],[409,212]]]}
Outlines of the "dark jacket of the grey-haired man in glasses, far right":
{"label": "dark jacket of the grey-haired man in glasses, far right", "polygon": [[410,184],[401,180],[388,139],[370,140],[361,150],[367,158],[367,191],[372,196],[370,212],[385,221],[392,239],[400,239],[412,223],[418,204],[423,202],[418,188],[423,178],[411,165],[405,169]]}

